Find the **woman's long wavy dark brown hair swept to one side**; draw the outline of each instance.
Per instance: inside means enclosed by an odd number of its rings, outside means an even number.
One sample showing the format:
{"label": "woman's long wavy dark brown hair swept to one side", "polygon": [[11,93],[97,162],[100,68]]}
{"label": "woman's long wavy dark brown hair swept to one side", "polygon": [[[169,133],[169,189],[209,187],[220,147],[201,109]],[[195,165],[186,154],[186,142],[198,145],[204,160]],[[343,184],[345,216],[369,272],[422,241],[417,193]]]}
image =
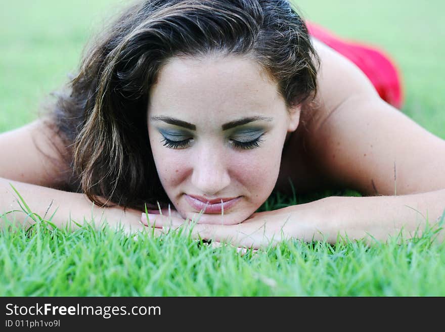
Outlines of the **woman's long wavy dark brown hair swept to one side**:
{"label": "woman's long wavy dark brown hair swept to one side", "polygon": [[171,57],[257,61],[288,107],[315,96],[319,58],[288,0],[146,0],[128,7],[85,52],[53,121],[75,191],[100,205],[168,203],[147,130],[150,87]]}

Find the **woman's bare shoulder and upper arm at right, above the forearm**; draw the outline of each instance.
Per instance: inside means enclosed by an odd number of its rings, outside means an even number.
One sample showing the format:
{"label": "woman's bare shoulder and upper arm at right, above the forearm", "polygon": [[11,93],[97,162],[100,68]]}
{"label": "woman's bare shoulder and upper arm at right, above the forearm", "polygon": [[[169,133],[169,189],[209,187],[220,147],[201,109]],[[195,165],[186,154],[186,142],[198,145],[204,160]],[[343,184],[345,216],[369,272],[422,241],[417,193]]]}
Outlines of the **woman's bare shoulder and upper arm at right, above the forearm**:
{"label": "woman's bare shoulder and upper arm at right, above the forearm", "polygon": [[319,93],[303,107],[298,129],[307,163],[327,181],[368,195],[444,187],[445,141],[380,99],[349,60],[321,42],[315,46]]}

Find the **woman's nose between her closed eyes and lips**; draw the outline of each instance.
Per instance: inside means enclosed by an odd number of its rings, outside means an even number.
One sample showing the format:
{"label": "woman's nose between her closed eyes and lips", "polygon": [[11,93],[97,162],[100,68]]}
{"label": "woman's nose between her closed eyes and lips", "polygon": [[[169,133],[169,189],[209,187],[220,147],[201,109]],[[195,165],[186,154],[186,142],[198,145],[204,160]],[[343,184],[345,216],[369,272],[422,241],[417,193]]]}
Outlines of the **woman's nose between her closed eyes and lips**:
{"label": "woman's nose between her closed eyes and lips", "polygon": [[192,184],[205,196],[217,196],[230,184],[223,149],[202,146],[193,160]]}

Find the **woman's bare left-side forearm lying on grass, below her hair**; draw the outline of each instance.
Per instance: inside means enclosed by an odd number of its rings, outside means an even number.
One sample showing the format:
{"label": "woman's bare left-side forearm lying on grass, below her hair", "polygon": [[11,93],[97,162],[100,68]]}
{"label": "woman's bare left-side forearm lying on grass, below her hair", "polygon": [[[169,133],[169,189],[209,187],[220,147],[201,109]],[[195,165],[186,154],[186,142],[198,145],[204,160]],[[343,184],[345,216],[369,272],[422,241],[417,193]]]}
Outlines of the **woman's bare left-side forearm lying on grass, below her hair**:
{"label": "woman's bare left-side forearm lying on grass, below her hair", "polygon": [[17,189],[33,213],[46,220],[55,213],[51,222],[57,227],[68,225],[70,229],[75,229],[77,228],[75,223],[83,224],[84,220],[87,222],[94,220],[95,225],[99,226],[104,219],[113,219],[107,222],[117,223],[119,221],[117,219],[123,219],[125,216],[122,208],[101,208],[93,205],[83,194],[0,178],[0,215],[9,212],[0,218],[0,228],[4,227],[5,218],[18,227],[28,227],[34,223],[34,220],[27,216],[27,212],[22,210],[24,205],[21,203],[22,207],[20,206],[20,199],[10,183]]}

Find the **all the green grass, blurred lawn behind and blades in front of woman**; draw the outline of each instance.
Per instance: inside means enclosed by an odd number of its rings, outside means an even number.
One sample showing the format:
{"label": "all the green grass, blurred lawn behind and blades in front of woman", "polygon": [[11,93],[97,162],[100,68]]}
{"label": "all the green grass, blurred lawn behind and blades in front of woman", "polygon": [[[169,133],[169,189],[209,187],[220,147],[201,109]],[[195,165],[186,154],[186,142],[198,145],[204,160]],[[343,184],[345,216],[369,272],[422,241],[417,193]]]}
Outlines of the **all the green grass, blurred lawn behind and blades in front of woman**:
{"label": "all the green grass, blurred lawn behind and blades in front of woman", "polygon": [[[0,132],[37,116],[48,93],[77,67],[88,35],[116,11],[113,5],[122,3],[0,0]],[[333,32],[386,50],[403,73],[403,112],[445,138],[445,3],[297,4],[306,18]],[[277,194],[262,210],[326,195]],[[242,256],[234,248],[210,248],[175,233],[133,239],[106,227],[67,232],[34,217],[38,222],[31,229],[0,233],[0,296],[445,295],[445,248],[433,241],[432,230],[419,239],[393,239],[371,247],[361,241],[293,241]]]}

